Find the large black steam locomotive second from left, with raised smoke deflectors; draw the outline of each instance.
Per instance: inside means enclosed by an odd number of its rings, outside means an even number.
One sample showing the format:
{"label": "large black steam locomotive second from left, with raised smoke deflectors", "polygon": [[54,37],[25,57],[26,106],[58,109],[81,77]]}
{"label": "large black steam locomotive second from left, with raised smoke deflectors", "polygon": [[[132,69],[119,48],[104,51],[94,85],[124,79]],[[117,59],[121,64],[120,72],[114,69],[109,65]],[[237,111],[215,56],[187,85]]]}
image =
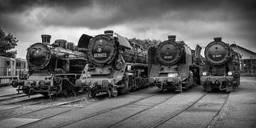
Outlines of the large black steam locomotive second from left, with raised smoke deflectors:
{"label": "large black steam locomotive second from left, with raised smoke deflectors", "polygon": [[85,43],[88,64],[75,85],[83,87],[89,97],[102,92],[117,97],[118,92],[148,85],[147,53],[142,46],[129,43],[114,31],[105,31]]}

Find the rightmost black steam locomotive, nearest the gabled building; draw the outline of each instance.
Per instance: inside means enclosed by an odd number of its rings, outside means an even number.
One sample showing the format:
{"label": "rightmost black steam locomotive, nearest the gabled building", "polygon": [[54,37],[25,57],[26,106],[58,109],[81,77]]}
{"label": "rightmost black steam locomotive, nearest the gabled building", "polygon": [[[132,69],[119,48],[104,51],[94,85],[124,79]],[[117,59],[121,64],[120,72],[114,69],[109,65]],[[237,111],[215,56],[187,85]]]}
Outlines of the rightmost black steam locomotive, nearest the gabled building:
{"label": "rightmost black steam locomotive, nearest the gabled building", "polygon": [[201,85],[206,92],[213,89],[233,91],[240,85],[239,53],[224,43],[221,37],[213,39],[204,52],[206,64],[203,66]]}

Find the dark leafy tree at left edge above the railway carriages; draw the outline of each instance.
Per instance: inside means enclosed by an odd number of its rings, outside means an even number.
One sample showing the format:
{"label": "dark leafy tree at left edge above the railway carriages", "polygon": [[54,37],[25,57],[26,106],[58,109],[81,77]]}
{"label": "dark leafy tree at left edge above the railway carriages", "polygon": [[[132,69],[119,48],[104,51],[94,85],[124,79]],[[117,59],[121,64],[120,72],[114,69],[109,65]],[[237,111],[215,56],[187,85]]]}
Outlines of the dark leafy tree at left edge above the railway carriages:
{"label": "dark leafy tree at left edge above the railway carriages", "polygon": [[11,50],[17,46],[18,40],[11,34],[6,34],[0,27],[0,56],[15,58],[17,50]]}

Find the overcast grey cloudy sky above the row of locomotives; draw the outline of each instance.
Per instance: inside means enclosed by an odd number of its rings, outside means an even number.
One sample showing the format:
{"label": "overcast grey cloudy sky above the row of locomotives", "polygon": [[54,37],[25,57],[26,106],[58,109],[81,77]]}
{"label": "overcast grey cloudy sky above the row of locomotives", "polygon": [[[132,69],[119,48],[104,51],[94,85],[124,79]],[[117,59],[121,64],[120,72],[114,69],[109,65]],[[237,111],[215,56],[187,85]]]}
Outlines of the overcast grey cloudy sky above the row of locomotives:
{"label": "overcast grey cloudy sky above the row of locomotives", "polygon": [[77,44],[82,33],[105,30],[161,41],[176,35],[193,49],[222,36],[226,43],[256,51],[255,21],[252,0],[0,0],[0,26],[18,38],[21,58],[41,34]]}

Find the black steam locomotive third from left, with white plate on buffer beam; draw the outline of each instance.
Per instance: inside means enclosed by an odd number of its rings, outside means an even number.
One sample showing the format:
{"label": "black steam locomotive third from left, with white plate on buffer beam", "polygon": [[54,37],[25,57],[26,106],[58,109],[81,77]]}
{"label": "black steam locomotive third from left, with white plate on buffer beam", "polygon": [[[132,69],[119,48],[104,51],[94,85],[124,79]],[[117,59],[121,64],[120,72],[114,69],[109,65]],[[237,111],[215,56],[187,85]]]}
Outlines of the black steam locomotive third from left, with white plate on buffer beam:
{"label": "black steam locomotive third from left, with white plate on buffer beam", "polygon": [[148,56],[149,83],[159,90],[182,92],[200,79],[194,50],[184,41],[176,41],[176,36],[168,36],[168,41],[157,48],[149,48]]}

